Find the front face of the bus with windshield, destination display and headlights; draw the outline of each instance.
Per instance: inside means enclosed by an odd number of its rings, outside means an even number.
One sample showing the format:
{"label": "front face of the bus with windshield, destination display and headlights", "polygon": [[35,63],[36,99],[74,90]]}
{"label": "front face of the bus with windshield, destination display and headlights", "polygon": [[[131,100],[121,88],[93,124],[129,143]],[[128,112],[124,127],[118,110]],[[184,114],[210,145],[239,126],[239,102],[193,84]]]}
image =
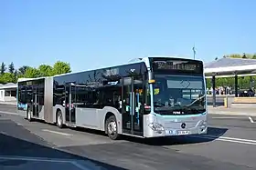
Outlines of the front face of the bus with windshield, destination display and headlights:
{"label": "front face of the bus with windshield, destination display and headlights", "polygon": [[197,60],[151,58],[151,114],[144,136],[207,134],[206,82]]}

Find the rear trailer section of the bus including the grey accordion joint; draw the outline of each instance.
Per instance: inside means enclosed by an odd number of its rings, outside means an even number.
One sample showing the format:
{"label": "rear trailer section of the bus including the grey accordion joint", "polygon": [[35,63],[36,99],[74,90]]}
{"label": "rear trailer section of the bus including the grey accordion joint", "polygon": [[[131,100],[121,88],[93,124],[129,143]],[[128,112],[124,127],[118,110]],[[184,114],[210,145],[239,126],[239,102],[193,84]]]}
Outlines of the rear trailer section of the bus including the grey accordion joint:
{"label": "rear trailer section of the bus including the grey accordion joint", "polygon": [[31,121],[54,123],[52,77],[21,78],[17,82],[17,113]]}

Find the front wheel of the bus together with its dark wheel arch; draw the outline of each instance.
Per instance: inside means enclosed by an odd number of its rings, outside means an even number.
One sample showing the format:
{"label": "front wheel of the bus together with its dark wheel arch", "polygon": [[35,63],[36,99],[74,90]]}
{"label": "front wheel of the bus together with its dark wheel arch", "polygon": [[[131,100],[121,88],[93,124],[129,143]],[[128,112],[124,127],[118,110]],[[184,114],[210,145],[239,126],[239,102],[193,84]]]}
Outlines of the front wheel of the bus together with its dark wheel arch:
{"label": "front wheel of the bus together with its dark wheel arch", "polygon": [[117,120],[112,112],[108,112],[105,116],[104,127],[105,133],[109,135],[112,140],[119,138]]}

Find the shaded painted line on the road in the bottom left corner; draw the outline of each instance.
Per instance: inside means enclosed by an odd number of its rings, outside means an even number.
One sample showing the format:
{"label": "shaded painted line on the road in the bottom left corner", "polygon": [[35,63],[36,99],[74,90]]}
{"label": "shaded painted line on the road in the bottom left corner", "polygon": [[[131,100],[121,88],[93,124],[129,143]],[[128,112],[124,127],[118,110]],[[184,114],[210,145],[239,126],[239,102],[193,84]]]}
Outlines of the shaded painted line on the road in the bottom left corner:
{"label": "shaded painted line on the road in the bottom left corner", "polygon": [[47,157],[26,157],[26,156],[1,156],[0,159],[4,160],[22,160],[22,161],[35,161],[35,162],[48,162],[48,163],[69,163],[75,165],[76,167],[80,168],[81,170],[90,170],[89,168],[80,165],[77,161],[68,160],[68,159],[52,159]]}

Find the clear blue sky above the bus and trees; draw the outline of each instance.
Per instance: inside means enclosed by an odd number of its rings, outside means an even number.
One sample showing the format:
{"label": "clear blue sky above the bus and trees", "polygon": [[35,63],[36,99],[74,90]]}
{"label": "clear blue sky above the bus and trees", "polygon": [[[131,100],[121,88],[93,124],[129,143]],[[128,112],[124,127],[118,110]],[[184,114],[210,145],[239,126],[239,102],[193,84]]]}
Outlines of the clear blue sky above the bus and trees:
{"label": "clear blue sky above the bus and trees", "polygon": [[0,62],[72,71],[176,55],[256,53],[252,0],[2,0]]}

